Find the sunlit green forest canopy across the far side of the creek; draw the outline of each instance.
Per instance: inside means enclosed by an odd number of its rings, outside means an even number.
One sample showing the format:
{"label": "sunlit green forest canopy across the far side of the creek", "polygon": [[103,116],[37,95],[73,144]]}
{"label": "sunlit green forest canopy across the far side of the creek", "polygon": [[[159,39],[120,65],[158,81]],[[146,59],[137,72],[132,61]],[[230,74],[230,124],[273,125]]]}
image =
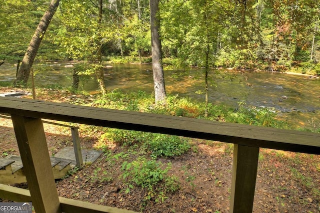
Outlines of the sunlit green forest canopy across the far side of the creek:
{"label": "sunlit green forest canopy across the far side of the creek", "polygon": [[[148,0],[61,0],[37,60],[151,55]],[[0,63],[21,60],[49,2],[0,2]],[[319,0],[160,0],[163,57],[174,68],[320,73]],[[93,54],[94,55],[94,54]],[[149,60],[149,59],[148,59]],[[91,67],[91,69],[93,69]]]}

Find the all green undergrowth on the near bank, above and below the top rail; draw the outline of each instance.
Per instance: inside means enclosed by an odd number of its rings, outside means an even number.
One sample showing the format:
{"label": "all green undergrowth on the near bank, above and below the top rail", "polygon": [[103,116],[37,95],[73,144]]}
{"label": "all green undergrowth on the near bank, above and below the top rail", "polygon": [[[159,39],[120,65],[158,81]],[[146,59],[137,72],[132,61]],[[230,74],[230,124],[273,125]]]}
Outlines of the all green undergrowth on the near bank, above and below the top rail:
{"label": "all green undergrowth on the near bank, above and below the top rail", "polygon": [[[92,106],[183,116],[218,122],[242,123],[256,126],[288,128],[283,121],[276,119],[276,112],[269,108],[248,108],[245,102],[239,102],[237,109],[226,105],[208,105],[208,117],[204,117],[205,105],[194,103],[189,98],[169,95],[164,104],[154,104],[154,97],[145,92],[124,94],[113,90],[94,99]],[[174,158],[189,152],[191,139],[164,134],[101,129],[98,148],[106,151],[107,161],[112,165],[121,163],[121,178],[125,182],[125,193],[135,187],[143,190],[143,205],[147,202],[163,202],[170,193],[179,189],[176,177],[169,176],[170,164],[162,164],[161,158]],[[125,147],[126,154],[113,154],[108,151],[110,144]],[[113,163],[112,163],[113,162]],[[111,165],[111,166],[112,166]]]}

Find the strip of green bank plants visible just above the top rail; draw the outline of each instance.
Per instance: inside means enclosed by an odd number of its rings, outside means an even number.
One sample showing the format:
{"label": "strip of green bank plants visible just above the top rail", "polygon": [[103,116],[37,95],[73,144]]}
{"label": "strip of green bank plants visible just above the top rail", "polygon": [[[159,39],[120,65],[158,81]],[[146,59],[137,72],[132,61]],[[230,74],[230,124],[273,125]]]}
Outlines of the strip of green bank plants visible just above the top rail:
{"label": "strip of green bank plants visible just above the top rail", "polygon": [[[165,105],[155,105],[153,102],[153,97],[151,95],[146,95],[144,92],[124,94],[119,90],[114,90],[108,94],[97,97],[93,106],[192,118],[203,118],[204,115],[204,104],[195,104],[189,98],[169,95],[166,98]],[[208,104],[208,117],[205,119],[257,126],[288,128],[287,124],[276,119],[276,116],[277,112],[274,111],[274,109],[263,107],[248,108],[246,107],[245,102],[239,102],[238,109],[233,109],[223,104]],[[117,134],[117,137],[122,135],[122,133]],[[140,142],[141,140],[138,139],[142,136],[133,134],[132,137],[133,138],[129,139],[130,141]]]}

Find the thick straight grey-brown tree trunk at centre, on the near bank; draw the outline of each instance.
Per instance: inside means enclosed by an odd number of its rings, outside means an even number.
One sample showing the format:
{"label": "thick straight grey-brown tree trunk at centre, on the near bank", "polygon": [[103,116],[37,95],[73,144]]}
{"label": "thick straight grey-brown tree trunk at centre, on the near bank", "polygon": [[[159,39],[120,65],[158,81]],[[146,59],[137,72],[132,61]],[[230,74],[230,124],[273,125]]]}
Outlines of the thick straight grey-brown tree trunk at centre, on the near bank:
{"label": "thick straight grey-brown tree trunk at centre, on the near bank", "polygon": [[150,30],[155,103],[165,101],[165,85],[160,40],[159,0],[150,0]]}

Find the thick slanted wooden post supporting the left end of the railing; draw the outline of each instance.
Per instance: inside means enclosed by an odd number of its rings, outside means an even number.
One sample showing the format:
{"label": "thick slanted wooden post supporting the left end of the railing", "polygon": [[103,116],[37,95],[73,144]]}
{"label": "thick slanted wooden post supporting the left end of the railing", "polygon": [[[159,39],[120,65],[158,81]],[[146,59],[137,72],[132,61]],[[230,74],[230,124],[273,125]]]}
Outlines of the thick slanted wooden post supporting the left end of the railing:
{"label": "thick slanted wooden post supporting the left end of the railing", "polygon": [[41,119],[11,118],[35,211],[61,213]]}

